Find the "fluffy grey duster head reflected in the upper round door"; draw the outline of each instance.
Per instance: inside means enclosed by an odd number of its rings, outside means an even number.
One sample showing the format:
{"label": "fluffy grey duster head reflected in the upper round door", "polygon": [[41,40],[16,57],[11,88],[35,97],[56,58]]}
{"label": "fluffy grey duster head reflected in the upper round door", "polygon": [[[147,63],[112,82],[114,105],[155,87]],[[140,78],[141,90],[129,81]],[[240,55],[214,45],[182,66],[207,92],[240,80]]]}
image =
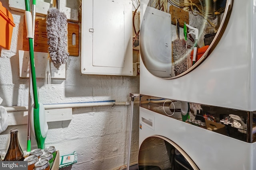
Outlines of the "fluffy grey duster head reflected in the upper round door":
{"label": "fluffy grey duster head reflected in the upper round door", "polygon": [[173,61],[175,76],[186,71],[187,68],[187,53],[186,41],[184,39],[175,39],[173,41]]}

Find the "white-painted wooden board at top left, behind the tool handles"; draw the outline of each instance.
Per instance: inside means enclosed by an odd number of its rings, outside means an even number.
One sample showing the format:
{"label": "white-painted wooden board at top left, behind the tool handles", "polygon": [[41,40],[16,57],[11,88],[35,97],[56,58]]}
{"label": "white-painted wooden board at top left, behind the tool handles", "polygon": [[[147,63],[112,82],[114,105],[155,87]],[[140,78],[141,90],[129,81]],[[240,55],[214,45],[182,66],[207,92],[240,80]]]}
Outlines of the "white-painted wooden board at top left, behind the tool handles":
{"label": "white-painted wooden board at top left, behind the tool handles", "polygon": [[[30,6],[31,7],[31,6]],[[48,9],[51,4],[44,1],[36,2],[36,15],[46,17]],[[9,8],[14,11],[25,12],[25,1],[24,0],[9,0]],[[78,22],[78,10],[60,6],[60,11],[64,12],[67,16],[68,21]]]}

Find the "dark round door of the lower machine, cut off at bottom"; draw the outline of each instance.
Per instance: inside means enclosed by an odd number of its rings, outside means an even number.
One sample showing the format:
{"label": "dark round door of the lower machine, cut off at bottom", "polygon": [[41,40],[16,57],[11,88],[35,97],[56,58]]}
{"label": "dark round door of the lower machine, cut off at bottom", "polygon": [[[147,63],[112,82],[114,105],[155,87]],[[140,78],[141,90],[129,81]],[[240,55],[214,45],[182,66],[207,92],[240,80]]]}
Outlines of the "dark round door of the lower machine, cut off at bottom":
{"label": "dark round door of the lower machine, cut off at bottom", "polygon": [[199,170],[192,158],[176,143],[158,135],[142,142],[138,166],[139,170]]}

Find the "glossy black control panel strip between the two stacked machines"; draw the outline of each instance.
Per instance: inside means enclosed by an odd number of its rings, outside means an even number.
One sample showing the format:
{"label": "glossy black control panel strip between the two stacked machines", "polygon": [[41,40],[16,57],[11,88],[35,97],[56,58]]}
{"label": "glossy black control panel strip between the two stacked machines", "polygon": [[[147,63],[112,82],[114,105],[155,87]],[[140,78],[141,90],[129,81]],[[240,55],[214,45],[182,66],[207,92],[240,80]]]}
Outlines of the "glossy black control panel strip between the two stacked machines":
{"label": "glossy black control panel strip between the two stacked machines", "polygon": [[140,95],[140,107],[248,143],[256,142],[256,111]]}

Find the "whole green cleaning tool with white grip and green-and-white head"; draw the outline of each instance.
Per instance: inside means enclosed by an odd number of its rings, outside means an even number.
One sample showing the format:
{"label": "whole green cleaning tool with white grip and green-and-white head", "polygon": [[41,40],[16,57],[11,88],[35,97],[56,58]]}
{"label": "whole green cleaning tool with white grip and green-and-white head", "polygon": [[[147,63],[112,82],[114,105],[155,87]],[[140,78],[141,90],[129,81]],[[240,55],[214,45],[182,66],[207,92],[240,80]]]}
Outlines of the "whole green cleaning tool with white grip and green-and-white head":
{"label": "whole green cleaning tool with white grip and green-and-white head", "polygon": [[31,109],[31,127],[34,130],[36,143],[38,148],[44,149],[44,141],[46,139],[48,125],[46,122],[46,115],[44,106],[38,103],[37,96],[37,87],[36,87],[36,69],[34,62],[34,48],[33,48],[33,26],[32,26],[32,14],[30,12],[30,2],[29,0],[25,0],[25,21],[26,21],[26,29],[27,29],[27,38],[29,44],[29,54],[30,54],[30,68],[31,68],[31,78],[32,78],[32,88],[33,88],[33,96],[34,96],[34,108]]}

